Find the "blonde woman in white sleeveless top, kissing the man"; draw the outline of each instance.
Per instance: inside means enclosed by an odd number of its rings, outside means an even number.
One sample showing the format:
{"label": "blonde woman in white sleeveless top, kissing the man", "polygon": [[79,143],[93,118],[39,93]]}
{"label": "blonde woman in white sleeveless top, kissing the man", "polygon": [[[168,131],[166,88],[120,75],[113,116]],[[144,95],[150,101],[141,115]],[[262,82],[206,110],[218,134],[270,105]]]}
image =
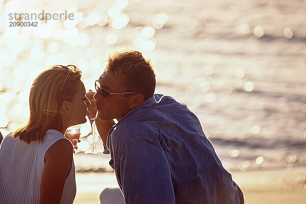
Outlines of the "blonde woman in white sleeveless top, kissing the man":
{"label": "blonde woman in white sleeveless top, kissing the man", "polygon": [[28,123],[0,147],[0,203],[73,202],[73,147],[64,133],[86,122],[90,102],[81,74],[73,65],[58,65],[34,80]]}

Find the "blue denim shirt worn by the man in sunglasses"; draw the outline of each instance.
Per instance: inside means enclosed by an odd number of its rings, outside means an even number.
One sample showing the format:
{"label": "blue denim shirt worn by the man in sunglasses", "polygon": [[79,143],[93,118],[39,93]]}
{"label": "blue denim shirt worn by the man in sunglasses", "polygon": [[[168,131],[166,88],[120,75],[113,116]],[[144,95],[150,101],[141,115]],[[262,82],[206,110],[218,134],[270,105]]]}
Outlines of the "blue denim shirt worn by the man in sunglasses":
{"label": "blue denim shirt worn by the man in sunglasses", "polygon": [[109,132],[110,165],[127,204],[244,203],[197,117],[155,94]]}

